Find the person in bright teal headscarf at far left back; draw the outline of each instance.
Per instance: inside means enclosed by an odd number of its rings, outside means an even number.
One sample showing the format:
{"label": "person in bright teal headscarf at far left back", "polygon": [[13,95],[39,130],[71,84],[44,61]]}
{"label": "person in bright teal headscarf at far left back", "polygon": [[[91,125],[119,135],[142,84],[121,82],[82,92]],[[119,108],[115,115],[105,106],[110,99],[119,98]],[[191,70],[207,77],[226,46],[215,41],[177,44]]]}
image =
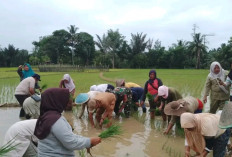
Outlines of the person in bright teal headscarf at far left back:
{"label": "person in bright teal headscarf at far left back", "polygon": [[20,65],[18,67],[17,73],[20,76],[20,81],[22,81],[25,78],[31,77],[32,75],[35,74],[35,72],[31,68],[31,65],[28,63],[25,63],[24,66]]}

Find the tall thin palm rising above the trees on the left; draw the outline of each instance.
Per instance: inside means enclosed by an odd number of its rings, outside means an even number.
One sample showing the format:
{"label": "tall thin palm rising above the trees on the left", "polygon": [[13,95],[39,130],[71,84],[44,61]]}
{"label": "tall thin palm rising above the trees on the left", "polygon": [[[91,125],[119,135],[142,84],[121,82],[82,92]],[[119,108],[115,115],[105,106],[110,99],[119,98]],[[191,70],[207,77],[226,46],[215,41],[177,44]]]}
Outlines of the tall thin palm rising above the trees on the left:
{"label": "tall thin palm rising above the trees on the left", "polygon": [[75,46],[77,45],[77,30],[79,28],[76,27],[75,25],[70,25],[70,27],[68,27],[68,30],[69,30],[69,34],[71,36],[71,38],[68,40],[68,43],[70,44],[71,46],[71,54],[72,54],[72,64],[74,65],[74,59],[73,59],[73,56],[74,56],[74,48]]}

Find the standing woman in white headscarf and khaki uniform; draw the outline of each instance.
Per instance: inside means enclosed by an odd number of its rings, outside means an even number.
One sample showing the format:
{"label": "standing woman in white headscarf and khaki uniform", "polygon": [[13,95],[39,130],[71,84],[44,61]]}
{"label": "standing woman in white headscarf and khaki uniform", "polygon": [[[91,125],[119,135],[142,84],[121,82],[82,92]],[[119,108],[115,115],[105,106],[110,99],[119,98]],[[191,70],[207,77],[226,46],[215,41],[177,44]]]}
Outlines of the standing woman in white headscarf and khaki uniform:
{"label": "standing woman in white headscarf and khaki uniform", "polygon": [[216,113],[219,108],[222,110],[225,101],[229,100],[229,88],[221,85],[225,81],[225,71],[220,63],[213,62],[210,65],[210,73],[205,83],[205,92],[203,102],[207,102],[207,96],[210,93],[210,113]]}

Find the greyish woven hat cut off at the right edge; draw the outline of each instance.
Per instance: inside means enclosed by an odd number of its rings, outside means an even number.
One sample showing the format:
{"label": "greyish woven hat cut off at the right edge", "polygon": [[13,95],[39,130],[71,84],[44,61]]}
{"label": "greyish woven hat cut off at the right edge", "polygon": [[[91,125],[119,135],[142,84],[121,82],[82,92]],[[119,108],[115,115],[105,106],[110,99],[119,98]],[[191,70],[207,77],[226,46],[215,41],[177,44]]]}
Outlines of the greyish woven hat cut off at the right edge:
{"label": "greyish woven hat cut off at the right edge", "polygon": [[232,128],[232,102],[226,102],[219,121],[221,129]]}

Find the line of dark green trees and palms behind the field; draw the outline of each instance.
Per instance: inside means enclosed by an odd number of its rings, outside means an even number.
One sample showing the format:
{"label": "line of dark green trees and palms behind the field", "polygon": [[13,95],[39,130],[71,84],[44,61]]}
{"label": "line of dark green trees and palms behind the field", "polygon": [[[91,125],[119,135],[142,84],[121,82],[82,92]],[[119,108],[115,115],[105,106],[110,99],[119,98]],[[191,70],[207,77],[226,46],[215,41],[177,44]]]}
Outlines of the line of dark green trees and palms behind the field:
{"label": "line of dark green trees and palms behind the field", "polygon": [[13,45],[0,48],[0,67],[18,66],[29,62],[38,64],[72,64],[80,66],[108,66],[110,68],[209,68],[218,61],[224,68],[232,62],[232,37],[217,49],[208,50],[205,36],[191,34],[192,41],[177,40],[168,48],[160,40],[148,39],[144,33],[131,34],[125,40],[119,30],[108,30],[96,41],[78,27],[55,30],[51,35],[33,41],[31,54]]}

